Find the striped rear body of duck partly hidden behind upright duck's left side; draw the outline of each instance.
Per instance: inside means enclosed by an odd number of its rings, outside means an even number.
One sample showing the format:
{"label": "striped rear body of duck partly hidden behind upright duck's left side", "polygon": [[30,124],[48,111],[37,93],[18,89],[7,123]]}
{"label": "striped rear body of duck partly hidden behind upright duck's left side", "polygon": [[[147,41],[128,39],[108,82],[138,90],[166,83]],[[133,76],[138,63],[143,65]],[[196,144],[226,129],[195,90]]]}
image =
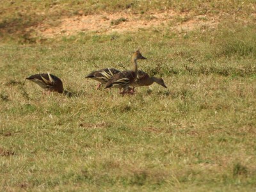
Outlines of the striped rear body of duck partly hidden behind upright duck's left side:
{"label": "striped rear body of duck partly hidden behind upright duck's left side", "polygon": [[90,74],[85,76],[85,78],[90,78],[99,81],[100,83],[96,87],[96,90],[99,90],[102,84],[108,83],[108,81],[119,72],[120,70],[117,70],[116,68],[102,68],[100,70],[95,70],[91,72]]}

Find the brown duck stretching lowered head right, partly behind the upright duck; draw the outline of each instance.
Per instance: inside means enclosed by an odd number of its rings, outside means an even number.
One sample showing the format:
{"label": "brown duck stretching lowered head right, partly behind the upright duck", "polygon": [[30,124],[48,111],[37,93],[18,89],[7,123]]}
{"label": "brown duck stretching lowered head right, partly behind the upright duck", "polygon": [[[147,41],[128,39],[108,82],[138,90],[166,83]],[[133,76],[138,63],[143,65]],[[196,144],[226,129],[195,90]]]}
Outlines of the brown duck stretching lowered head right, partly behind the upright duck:
{"label": "brown duck stretching lowered head right, partly behind the upright duck", "polygon": [[167,88],[167,86],[164,84],[164,80],[160,77],[150,77],[146,72],[143,72],[143,70],[138,70],[138,75],[136,81],[131,84],[132,88],[129,88],[130,93],[134,93],[134,88],[138,86],[150,86],[153,83],[160,84],[164,88]]}

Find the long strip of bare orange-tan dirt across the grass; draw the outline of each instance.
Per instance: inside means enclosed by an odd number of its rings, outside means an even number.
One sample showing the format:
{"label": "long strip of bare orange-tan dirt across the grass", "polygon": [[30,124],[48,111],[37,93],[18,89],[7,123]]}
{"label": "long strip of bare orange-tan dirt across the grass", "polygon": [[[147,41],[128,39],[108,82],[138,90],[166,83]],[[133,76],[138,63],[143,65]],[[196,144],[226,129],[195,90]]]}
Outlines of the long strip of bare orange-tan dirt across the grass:
{"label": "long strip of bare orange-tan dirt across the grass", "polygon": [[79,32],[95,31],[96,33],[124,33],[150,28],[169,28],[176,31],[191,31],[201,26],[214,28],[218,24],[217,17],[207,15],[191,16],[189,13],[169,12],[151,13],[106,13],[97,15],[76,15],[61,19],[60,26],[50,27],[40,24],[35,29],[41,36],[52,38],[59,35],[75,35]]}

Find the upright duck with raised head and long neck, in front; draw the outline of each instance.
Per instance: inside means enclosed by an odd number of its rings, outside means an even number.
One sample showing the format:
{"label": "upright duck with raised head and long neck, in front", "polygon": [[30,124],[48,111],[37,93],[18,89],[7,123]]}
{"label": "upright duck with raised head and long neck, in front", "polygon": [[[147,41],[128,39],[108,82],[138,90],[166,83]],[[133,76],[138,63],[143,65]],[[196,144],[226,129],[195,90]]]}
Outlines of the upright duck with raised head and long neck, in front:
{"label": "upright duck with raised head and long neck, in front", "polygon": [[[138,75],[138,64],[137,60],[147,60],[142,54],[140,53],[140,50],[137,50],[133,52],[132,54],[132,63],[133,68],[131,70],[124,70],[122,72],[118,72],[118,74],[115,74],[108,83],[106,83],[106,88],[116,87],[119,88],[119,93],[124,96],[125,93],[129,92],[129,86],[134,84],[134,82],[137,79]],[[121,90],[123,91],[121,92]]]}

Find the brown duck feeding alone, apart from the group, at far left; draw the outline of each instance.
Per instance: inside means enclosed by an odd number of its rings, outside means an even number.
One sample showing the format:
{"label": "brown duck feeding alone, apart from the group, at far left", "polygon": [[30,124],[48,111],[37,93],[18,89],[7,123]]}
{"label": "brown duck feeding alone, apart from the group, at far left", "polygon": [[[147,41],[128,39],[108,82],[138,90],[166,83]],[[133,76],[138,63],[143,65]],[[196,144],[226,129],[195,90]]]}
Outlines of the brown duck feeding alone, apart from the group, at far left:
{"label": "brown duck feeding alone, apart from the group, at far left", "polygon": [[49,72],[47,74],[35,74],[30,77],[27,77],[26,80],[32,81],[38,84],[41,88],[44,89],[44,92],[58,92],[65,95],[71,96],[72,93],[67,92],[63,89],[63,83],[59,77],[56,77]]}

